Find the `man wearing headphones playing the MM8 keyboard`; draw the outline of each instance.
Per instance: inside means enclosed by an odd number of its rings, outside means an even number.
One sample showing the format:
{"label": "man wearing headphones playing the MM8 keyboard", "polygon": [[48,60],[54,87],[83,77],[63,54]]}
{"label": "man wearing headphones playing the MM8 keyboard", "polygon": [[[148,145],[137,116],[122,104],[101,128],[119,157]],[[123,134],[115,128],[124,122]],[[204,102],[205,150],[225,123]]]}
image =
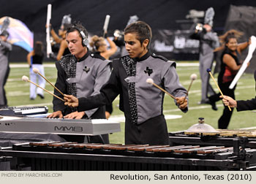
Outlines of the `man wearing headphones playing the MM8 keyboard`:
{"label": "man wearing headphones playing the MM8 keyboard", "polygon": [[[80,23],[74,23],[67,29],[67,45],[71,54],[56,62],[58,77],[56,88],[62,93],[72,94],[78,98],[96,95],[110,77],[110,61],[100,55],[91,54],[87,45],[88,32]],[[56,96],[61,96],[54,90]],[[105,107],[78,112],[77,108],[67,107],[64,102],[53,97],[53,113],[48,118],[97,118],[105,119]],[[67,141],[83,142],[84,136],[61,136]],[[108,143],[108,134],[86,137],[88,142]]]}

